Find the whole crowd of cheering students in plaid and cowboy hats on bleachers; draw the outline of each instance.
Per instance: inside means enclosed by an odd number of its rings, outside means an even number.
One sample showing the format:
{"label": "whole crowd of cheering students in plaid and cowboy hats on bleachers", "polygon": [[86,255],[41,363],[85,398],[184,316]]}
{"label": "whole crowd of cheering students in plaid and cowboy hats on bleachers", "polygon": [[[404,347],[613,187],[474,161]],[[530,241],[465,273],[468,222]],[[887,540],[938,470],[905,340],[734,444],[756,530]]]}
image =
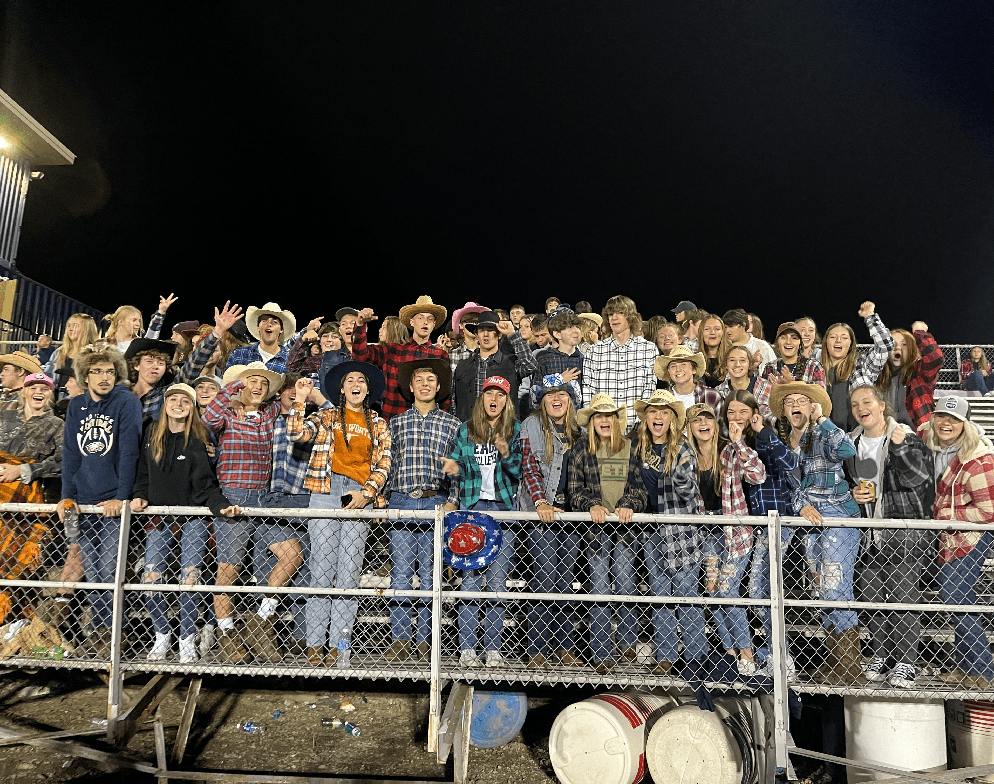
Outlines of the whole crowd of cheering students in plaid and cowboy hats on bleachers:
{"label": "whole crowd of cheering students in plaid and cowboy hats on bleachers", "polygon": [[[638,592],[638,564],[657,596],[768,597],[771,510],[810,525],[796,537],[813,595],[827,601],[916,602],[929,561],[940,595],[975,603],[973,585],[989,533],[833,525],[840,518],[994,521],[994,449],[970,421],[966,400],[933,400],[942,353],[921,322],[888,329],[871,302],[858,309],[872,339],[857,350],[845,323],[823,330],[807,317],[763,339],[758,317],[722,316],[681,302],[670,317],[644,320],[626,296],[599,314],[550,298],[529,315],[466,303],[451,315],[428,296],[379,320],[370,308],[341,308],[335,321],[298,329],[275,303],[215,309],[214,324],[182,322],[161,339],[172,295],[144,328],[135,308],[73,316],[56,347],[0,356],[0,467],[3,500],[59,500],[79,516],[63,580],[109,582],[123,504],[206,506],[213,519],[144,525],[143,580],[197,585],[209,551],[214,581],[231,586],[243,570],[269,588],[357,588],[369,519],[348,510],[523,510],[538,520],[503,524],[498,556],[462,573],[463,590],[503,590],[509,573],[529,589],[570,593],[582,581],[597,595]],[[979,350],[979,349],[978,349]],[[969,364],[969,367],[967,367]],[[968,389],[987,391],[989,366],[971,354]],[[63,423],[57,414],[65,419]],[[60,485],[61,479],[61,485]],[[252,518],[246,507],[343,509],[340,516]],[[591,523],[558,518],[585,512]],[[683,515],[632,524],[632,515]],[[695,523],[689,515],[735,516]],[[392,587],[432,583],[432,523],[391,520]],[[178,540],[178,541],[177,541]],[[176,560],[178,570],[173,569]],[[519,559],[525,563],[519,563]],[[168,594],[146,596],[155,641],[151,660],[172,655]],[[277,627],[280,594],[263,593],[237,622],[228,593],[205,608],[200,593],[179,599],[182,663],[198,660],[198,621],[217,623],[221,661],[277,662],[302,656],[333,666],[336,641],[356,621],[355,597],[310,595],[292,631]],[[47,600],[63,622],[72,591]],[[91,620],[80,655],[110,645],[108,591],[89,593]],[[459,602],[462,667],[505,660],[501,601]],[[699,604],[652,605],[652,673],[693,675],[709,656]],[[725,653],[744,676],[768,675],[743,606],[712,605]],[[585,614],[588,638],[575,623]],[[770,638],[768,610],[757,610]],[[916,678],[918,614],[821,610],[824,663],[814,677],[845,684]],[[862,617],[861,617],[862,616]],[[643,621],[644,622],[644,621]],[[639,614],[623,601],[534,602],[527,618],[527,666],[591,667],[606,674],[637,660]],[[860,626],[870,631],[863,663]],[[614,628],[616,626],[616,632]],[[965,688],[994,683],[979,616],[954,614],[958,667],[943,677]],[[426,659],[427,604],[391,600],[391,661]],[[643,629],[645,636],[649,630]],[[200,650],[203,650],[203,646]],[[682,662],[682,664],[681,664]],[[788,651],[788,673],[793,659]]]}

